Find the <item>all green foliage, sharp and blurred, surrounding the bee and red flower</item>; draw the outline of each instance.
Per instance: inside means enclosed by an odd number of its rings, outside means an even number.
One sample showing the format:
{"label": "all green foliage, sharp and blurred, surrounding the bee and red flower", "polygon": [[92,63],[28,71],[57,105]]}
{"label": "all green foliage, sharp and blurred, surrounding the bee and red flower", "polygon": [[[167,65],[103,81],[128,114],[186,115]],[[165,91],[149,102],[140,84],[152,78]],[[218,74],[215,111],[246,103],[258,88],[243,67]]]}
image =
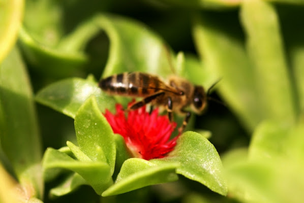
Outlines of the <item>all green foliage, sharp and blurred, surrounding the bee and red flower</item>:
{"label": "all green foliage, sharp and blurred, surrounding the bee and red flower", "polygon": [[[0,0],[1,202],[302,202],[303,1],[23,4]],[[175,74],[205,90],[220,80],[228,110],[210,101],[211,115],[192,116],[192,131],[164,158],[134,158],[103,116],[130,99],[96,80],[132,71]],[[67,146],[54,149],[46,136]]]}

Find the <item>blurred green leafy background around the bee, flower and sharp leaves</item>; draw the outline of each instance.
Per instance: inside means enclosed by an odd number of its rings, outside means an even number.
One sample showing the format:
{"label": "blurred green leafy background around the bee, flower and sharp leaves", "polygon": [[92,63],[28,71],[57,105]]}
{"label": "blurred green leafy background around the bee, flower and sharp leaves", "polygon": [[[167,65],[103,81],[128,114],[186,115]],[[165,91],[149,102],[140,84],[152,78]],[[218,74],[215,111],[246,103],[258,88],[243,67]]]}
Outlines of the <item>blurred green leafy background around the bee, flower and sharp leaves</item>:
{"label": "blurred green leafy background around the bee, flower and sharp leaves", "polygon": [[[87,186],[49,198],[60,177],[47,183],[43,194],[37,166],[43,152],[47,147],[63,147],[67,140],[76,142],[76,137],[74,120],[37,103],[35,95],[59,80],[89,74],[96,81],[123,71],[166,77],[162,69],[168,67],[168,55],[159,46],[165,43],[174,52],[175,67],[179,67],[176,53],[185,54],[178,75],[205,88],[221,79],[211,96],[226,106],[210,101],[203,115],[193,117],[189,130],[212,133],[209,141],[222,158],[228,195],[180,177],[175,183],[135,190],[117,199],[301,202],[303,11],[301,0],[1,1],[2,166],[22,186],[36,185],[28,196],[44,196],[44,202],[115,202],[110,197],[100,199]],[[105,17],[100,24],[98,14]],[[144,34],[137,35],[141,31]],[[153,57],[156,51],[161,54]],[[5,194],[0,188],[0,196]]]}

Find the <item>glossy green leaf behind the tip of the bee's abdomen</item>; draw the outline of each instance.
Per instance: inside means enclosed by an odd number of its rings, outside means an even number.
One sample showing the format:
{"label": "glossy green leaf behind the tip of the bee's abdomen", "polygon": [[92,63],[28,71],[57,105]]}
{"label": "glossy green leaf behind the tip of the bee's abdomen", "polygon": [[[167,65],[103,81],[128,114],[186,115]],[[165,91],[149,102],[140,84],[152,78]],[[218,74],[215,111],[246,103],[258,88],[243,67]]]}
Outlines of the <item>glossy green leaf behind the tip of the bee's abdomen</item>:
{"label": "glossy green leaf behind the tip of the bee's abdomen", "polygon": [[103,93],[97,83],[89,78],[86,80],[71,78],[53,83],[40,90],[36,95],[36,100],[60,113],[75,118],[80,106],[92,95],[95,95],[102,111],[105,109],[114,111],[115,100]]}

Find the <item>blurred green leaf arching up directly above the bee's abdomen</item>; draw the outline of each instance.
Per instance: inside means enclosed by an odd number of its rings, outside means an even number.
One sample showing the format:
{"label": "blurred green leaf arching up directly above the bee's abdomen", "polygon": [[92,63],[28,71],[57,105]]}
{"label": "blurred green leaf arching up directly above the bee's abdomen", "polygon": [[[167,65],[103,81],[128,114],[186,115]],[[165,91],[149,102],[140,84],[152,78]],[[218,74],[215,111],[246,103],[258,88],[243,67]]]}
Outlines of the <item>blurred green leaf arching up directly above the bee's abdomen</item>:
{"label": "blurred green leaf arching up directly above the bee's abdomen", "polygon": [[[98,15],[95,22],[107,33],[111,42],[103,77],[132,71],[163,77],[172,74],[169,63],[172,54],[168,54],[170,50],[144,24],[114,15]],[[169,59],[164,57],[167,55]]]}

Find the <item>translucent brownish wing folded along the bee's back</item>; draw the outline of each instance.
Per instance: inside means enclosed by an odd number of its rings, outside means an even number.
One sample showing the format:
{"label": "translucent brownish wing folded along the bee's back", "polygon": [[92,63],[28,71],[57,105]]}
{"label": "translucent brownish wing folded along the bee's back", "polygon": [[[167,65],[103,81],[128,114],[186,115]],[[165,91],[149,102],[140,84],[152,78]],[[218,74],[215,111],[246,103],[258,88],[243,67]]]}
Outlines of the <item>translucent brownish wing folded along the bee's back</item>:
{"label": "translucent brownish wing folded along the bee's back", "polygon": [[167,85],[159,77],[147,73],[132,72],[128,74],[128,81],[136,87],[157,89],[174,94],[180,94],[180,91],[174,87]]}

